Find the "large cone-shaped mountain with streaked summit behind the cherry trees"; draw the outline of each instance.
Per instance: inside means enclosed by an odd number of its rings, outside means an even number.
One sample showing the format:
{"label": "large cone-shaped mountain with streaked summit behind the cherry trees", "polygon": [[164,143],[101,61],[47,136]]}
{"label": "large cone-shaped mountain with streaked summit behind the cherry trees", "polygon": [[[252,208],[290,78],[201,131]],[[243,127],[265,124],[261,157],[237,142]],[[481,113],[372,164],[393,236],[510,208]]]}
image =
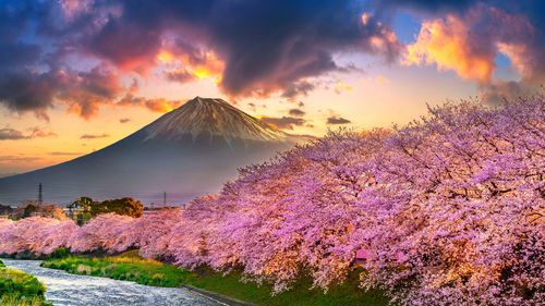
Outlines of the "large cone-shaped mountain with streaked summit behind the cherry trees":
{"label": "large cone-shaped mountain with streaked summit behind the cherry trees", "polygon": [[196,97],[134,134],[93,154],[0,179],[0,203],[132,196],[145,204],[182,204],[304,139],[283,133],[221,99]]}

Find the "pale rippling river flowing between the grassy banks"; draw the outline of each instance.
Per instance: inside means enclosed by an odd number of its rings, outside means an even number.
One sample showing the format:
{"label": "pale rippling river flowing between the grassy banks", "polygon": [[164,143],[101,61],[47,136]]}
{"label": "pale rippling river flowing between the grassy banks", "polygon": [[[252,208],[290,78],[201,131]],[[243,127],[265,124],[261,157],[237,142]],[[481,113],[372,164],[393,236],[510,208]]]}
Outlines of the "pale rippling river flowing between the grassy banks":
{"label": "pale rippling river flowing between the grassy banks", "polygon": [[55,306],[174,306],[225,305],[183,287],[159,287],[106,278],[70,274],[41,268],[40,260],[2,259],[15,270],[31,273],[47,286],[46,298]]}

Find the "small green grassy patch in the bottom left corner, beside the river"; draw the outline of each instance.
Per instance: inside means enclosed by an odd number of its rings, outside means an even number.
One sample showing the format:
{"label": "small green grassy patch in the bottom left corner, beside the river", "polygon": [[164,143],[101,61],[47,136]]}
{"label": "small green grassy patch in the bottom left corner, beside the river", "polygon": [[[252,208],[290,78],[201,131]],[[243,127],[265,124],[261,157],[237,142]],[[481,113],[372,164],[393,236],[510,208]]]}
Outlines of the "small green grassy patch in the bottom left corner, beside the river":
{"label": "small green grassy patch in the bottom left corner, beside the river", "polygon": [[3,306],[52,306],[44,294],[46,286],[34,276],[7,269],[0,260],[0,305]]}

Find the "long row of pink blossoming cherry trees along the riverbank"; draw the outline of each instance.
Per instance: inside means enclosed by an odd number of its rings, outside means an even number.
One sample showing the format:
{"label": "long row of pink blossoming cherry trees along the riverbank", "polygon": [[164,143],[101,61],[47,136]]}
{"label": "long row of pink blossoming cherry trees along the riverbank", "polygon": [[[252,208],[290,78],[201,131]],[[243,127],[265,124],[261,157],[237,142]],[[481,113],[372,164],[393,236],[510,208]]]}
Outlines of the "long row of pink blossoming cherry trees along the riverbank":
{"label": "long row of pink blossoming cherry trees along the riverbank", "polygon": [[[190,268],[243,267],[278,292],[302,272],[327,290],[362,265],[363,287],[402,304],[538,305],[544,119],[537,96],[500,108],[433,107],[391,131],[330,132],[241,170],[184,211],[105,215],[51,241],[74,250],[140,247]],[[27,236],[43,231],[26,229],[57,227],[26,220],[0,222],[1,250],[39,250]]]}

